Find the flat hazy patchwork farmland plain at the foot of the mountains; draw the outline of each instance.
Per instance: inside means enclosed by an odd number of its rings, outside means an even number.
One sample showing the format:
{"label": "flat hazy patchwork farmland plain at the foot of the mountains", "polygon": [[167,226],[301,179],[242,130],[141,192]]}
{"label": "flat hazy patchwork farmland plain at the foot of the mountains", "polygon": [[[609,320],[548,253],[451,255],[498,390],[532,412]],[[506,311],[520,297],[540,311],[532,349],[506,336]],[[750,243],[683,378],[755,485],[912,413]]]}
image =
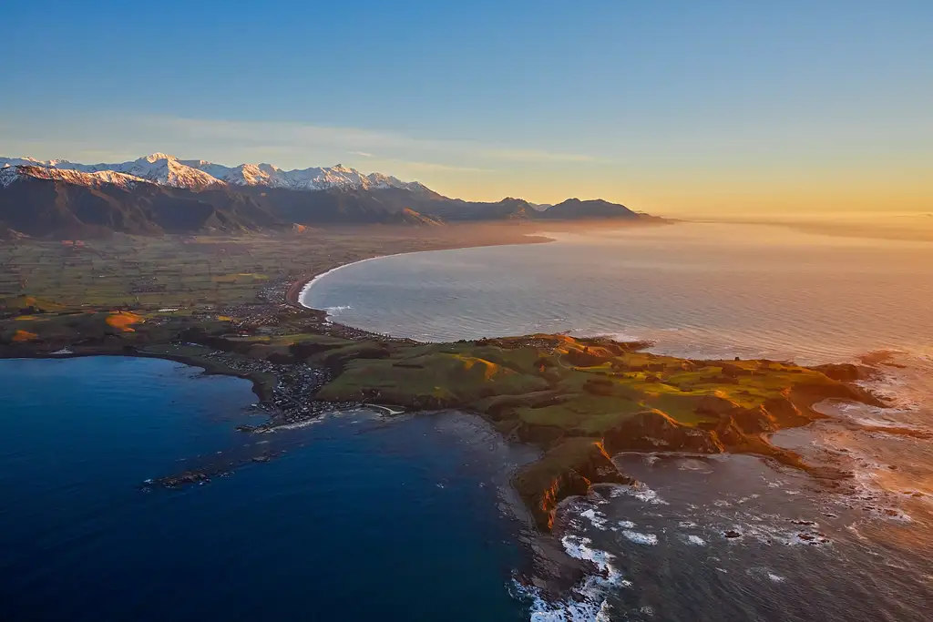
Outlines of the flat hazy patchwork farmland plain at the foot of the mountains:
{"label": "flat hazy patchwork farmland plain at the foot of the mountains", "polygon": [[528,241],[500,226],[307,229],[241,237],[114,235],[107,240],[0,242],[3,300],[143,308],[255,302],[270,283],[298,280],[372,256]]}

